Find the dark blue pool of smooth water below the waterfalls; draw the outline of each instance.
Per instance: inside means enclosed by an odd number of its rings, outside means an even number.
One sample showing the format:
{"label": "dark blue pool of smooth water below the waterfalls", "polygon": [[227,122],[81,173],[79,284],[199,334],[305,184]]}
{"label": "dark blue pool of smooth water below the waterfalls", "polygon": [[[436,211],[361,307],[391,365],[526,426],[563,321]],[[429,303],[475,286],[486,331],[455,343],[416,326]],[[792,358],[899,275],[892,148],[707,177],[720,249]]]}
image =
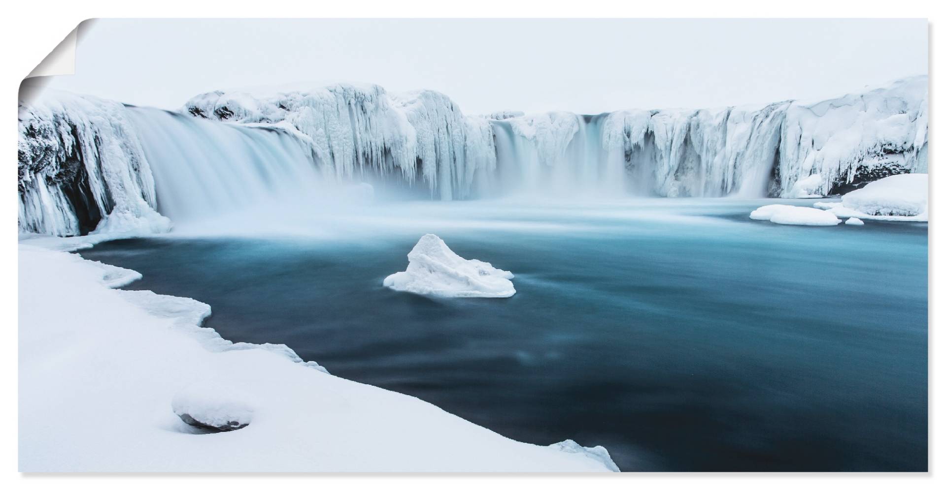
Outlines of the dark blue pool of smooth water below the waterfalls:
{"label": "dark blue pool of smooth water below the waterfalls", "polygon": [[[680,219],[441,204],[332,238],[81,254],[144,274],[131,289],[209,303],[227,339],[287,344],[520,441],[602,445],[625,471],[925,471],[926,227],[786,227],[748,220],[758,204],[662,211]],[[421,232],[513,271],[517,295],[381,287]]]}

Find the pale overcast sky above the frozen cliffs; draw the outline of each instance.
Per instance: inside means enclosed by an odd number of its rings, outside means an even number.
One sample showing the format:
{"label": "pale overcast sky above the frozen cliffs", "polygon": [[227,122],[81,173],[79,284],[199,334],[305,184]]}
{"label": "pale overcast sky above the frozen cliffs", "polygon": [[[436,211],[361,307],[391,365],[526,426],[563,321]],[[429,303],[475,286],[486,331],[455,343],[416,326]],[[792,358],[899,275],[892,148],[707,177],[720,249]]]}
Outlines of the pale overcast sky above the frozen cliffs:
{"label": "pale overcast sky above the frozen cliffs", "polygon": [[925,20],[110,19],[80,30],[76,75],[51,84],[165,109],[220,88],[309,81],[433,89],[471,114],[704,108],[829,98],[926,74],[927,29]]}

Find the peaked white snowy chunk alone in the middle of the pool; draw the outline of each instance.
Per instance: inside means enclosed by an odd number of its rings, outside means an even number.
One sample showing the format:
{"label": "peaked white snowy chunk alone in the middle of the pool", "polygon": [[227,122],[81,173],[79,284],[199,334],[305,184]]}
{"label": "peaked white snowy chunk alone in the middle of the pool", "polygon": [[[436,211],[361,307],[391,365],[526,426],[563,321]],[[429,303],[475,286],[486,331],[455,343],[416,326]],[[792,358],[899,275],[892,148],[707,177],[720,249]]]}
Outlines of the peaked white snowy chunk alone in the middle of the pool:
{"label": "peaked white snowy chunk alone in the middle of the pool", "polygon": [[516,294],[513,274],[489,262],[466,260],[437,235],[421,237],[408,253],[408,268],[384,279],[383,285],[417,295],[509,297]]}

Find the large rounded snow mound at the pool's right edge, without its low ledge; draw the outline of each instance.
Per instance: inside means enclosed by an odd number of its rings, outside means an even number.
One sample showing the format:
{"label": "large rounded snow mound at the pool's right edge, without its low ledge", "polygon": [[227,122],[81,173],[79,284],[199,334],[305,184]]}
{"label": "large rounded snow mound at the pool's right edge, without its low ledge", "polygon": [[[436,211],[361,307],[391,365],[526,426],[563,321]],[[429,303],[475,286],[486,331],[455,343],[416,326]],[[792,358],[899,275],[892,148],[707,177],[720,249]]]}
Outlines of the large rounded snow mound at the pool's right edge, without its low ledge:
{"label": "large rounded snow mound at the pool's right edge, without its low ledge", "polygon": [[926,214],[929,179],[926,174],[901,174],[868,183],[844,194],[845,208],[872,216]]}

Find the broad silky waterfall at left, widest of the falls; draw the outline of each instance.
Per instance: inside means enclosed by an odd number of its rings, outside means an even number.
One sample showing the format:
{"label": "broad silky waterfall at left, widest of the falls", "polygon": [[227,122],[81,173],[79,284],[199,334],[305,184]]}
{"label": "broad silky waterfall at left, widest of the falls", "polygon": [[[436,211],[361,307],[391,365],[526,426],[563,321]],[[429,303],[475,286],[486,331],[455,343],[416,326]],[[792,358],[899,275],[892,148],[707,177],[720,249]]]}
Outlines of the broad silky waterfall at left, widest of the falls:
{"label": "broad silky waterfall at left, widest of the falls", "polygon": [[166,110],[129,108],[157,190],[175,223],[319,193],[311,149],[282,129],[239,127]]}

